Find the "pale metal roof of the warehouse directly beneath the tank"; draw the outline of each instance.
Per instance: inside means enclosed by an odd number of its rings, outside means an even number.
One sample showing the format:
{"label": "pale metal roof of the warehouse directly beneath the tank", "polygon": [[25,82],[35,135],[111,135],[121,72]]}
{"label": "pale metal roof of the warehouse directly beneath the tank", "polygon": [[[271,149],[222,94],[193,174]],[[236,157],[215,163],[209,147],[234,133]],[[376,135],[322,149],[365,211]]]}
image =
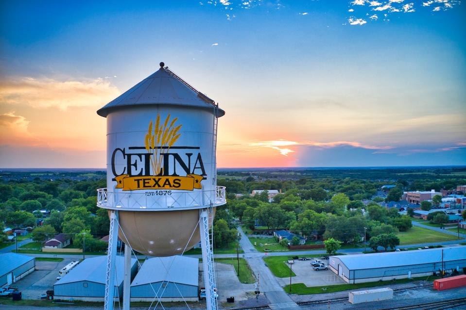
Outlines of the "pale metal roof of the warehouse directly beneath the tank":
{"label": "pale metal roof of the warehouse directly beneath the tank", "polygon": [[131,286],[161,281],[198,286],[199,259],[177,255],[146,260]]}

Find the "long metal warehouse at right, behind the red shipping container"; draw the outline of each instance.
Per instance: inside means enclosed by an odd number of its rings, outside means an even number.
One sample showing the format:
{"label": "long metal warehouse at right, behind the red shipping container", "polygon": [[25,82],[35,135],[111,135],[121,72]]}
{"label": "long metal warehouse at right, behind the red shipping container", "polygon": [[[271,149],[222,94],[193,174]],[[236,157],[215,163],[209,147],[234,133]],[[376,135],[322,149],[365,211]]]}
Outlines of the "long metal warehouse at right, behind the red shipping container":
{"label": "long metal warehouse at right, behind the red shipping container", "polygon": [[429,276],[436,271],[466,268],[466,246],[330,256],[328,266],[346,283]]}

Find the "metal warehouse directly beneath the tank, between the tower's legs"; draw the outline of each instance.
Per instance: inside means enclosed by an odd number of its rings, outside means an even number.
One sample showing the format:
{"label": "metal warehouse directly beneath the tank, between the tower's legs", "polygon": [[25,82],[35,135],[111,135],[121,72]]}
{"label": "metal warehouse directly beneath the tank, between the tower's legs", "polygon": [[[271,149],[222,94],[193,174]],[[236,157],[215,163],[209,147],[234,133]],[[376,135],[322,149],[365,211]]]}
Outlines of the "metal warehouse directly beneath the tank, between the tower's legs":
{"label": "metal warehouse directly beneath the tank, between the tower's legs", "polygon": [[152,258],[144,261],[131,283],[131,301],[197,301],[199,259],[185,256]]}

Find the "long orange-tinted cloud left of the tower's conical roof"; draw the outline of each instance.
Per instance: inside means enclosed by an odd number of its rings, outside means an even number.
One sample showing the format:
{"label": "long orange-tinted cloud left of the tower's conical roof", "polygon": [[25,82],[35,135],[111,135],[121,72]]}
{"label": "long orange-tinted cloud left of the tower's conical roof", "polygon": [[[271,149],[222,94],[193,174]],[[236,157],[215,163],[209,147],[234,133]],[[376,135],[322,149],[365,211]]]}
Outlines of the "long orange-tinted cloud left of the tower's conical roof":
{"label": "long orange-tinted cloud left of the tower's conical roof", "polygon": [[22,79],[0,81],[1,104],[26,104],[34,108],[102,106],[121,92],[108,81],[57,81]]}

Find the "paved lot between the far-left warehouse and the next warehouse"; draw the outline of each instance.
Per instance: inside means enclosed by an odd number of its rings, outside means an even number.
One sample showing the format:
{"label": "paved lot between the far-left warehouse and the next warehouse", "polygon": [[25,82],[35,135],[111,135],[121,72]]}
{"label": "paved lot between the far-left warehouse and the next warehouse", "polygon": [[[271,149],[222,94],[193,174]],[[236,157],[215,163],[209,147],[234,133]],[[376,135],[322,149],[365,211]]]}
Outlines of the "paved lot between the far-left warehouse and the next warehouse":
{"label": "paved lot between the far-left warehouse and the next warehouse", "polygon": [[53,284],[58,277],[58,271],[72,259],[63,261],[36,261],[35,271],[17,281],[14,285],[19,288],[24,299],[40,299],[41,294],[53,290]]}

